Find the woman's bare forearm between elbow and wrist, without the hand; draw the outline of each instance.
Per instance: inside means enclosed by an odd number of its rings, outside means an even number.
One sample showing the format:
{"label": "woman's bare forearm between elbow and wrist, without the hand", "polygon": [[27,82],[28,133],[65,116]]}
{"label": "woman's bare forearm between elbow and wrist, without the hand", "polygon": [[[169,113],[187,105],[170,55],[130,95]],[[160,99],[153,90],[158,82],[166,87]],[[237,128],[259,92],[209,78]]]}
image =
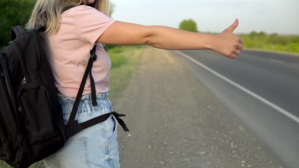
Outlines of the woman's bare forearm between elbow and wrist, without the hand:
{"label": "woman's bare forearm between elbow and wrist, without the hand", "polygon": [[210,49],[213,35],[163,26],[150,26],[146,44],[167,50]]}

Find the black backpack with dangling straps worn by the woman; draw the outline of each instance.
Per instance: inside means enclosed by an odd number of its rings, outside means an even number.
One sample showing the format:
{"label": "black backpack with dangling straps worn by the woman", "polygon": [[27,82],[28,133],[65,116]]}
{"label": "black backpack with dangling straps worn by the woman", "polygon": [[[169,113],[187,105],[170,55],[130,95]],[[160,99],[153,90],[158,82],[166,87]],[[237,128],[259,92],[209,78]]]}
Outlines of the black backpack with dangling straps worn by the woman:
{"label": "black backpack with dangling straps worn by the woman", "polygon": [[49,62],[44,28],[25,31],[12,28],[11,41],[0,52],[0,160],[15,168],[27,168],[58,151],[72,135],[112,114],[124,131],[129,131],[117,112],[78,123],[75,116],[83,89],[90,76],[92,105],[96,104],[91,74],[96,59],[90,51],[80,89],[69,121],[63,124],[62,112]]}

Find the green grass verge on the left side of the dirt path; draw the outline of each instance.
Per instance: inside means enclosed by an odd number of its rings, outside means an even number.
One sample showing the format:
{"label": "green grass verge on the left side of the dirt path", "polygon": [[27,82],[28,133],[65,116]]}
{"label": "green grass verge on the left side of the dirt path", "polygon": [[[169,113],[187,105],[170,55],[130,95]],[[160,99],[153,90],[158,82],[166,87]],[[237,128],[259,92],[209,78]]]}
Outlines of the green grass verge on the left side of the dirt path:
{"label": "green grass verge on the left side of the dirt path", "polygon": [[[132,72],[139,66],[143,50],[144,47],[139,46],[122,46],[108,51],[112,61],[109,99],[118,97],[127,86]],[[0,161],[0,168],[11,167]],[[42,162],[38,162],[30,168],[44,168],[44,165]]]}

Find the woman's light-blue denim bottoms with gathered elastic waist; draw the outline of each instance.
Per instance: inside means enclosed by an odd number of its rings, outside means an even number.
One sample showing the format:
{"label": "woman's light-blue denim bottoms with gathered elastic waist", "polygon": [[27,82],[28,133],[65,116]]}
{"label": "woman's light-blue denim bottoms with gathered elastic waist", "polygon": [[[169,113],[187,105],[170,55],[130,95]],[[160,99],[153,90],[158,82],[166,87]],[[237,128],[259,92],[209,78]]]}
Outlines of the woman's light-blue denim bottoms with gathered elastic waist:
{"label": "woman's light-blue denim bottoms with gathered elastic waist", "polygon": [[[98,106],[91,104],[91,95],[84,95],[79,104],[76,119],[79,123],[96,116],[113,112],[107,96],[96,94]],[[60,97],[64,123],[68,121],[75,100]],[[120,168],[115,116],[91,126],[69,138],[64,146],[53,155],[45,158],[46,168]]]}

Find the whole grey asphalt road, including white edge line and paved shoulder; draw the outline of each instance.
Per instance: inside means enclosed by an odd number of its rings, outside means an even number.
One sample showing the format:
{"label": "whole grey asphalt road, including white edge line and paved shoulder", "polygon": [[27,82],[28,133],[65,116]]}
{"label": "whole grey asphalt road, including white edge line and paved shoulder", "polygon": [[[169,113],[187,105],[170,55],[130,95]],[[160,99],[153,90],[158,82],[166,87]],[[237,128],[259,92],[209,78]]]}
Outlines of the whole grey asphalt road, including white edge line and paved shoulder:
{"label": "whole grey asphalt road, including white edge line and paved shoulder", "polygon": [[258,51],[243,51],[237,59],[212,51],[174,55],[280,161],[299,168],[299,56]]}

